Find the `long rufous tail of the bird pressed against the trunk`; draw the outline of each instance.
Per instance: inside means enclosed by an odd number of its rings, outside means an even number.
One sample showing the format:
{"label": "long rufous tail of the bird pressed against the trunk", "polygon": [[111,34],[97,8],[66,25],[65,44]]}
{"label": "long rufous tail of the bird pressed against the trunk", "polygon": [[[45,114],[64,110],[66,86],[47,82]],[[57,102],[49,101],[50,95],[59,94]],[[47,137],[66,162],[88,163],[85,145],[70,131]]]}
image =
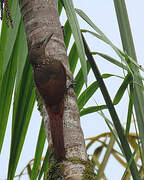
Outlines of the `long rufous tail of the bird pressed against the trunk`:
{"label": "long rufous tail of the bird pressed against the trunk", "polygon": [[56,159],[65,159],[64,135],[63,135],[63,112],[64,103],[57,106],[46,107],[49,119],[51,137]]}

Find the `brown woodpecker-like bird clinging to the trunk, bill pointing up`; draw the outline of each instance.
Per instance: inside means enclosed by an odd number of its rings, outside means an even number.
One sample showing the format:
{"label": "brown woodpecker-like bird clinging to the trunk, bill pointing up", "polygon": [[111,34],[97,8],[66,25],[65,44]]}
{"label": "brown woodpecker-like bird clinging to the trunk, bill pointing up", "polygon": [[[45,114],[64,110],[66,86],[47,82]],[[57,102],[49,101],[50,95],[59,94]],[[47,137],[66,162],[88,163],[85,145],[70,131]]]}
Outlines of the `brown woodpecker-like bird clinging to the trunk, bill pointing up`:
{"label": "brown woodpecker-like bird clinging to the trunk, bill pointing up", "polygon": [[[44,42],[35,45],[30,52],[35,85],[44,101],[49,115],[50,131],[56,159],[65,159],[63,113],[66,91],[66,69],[60,60],[45,57],[45,46],[53,34]],[[45,61],[44,61],[44,58]]]}

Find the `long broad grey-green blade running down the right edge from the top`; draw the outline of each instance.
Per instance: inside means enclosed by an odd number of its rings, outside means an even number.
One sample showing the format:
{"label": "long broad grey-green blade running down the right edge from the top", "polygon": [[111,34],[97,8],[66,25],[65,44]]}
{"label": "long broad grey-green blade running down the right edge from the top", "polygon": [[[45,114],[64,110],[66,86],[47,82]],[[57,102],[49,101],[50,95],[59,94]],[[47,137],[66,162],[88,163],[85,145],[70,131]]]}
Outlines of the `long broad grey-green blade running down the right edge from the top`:
{"label": "long broad grey-green blade running down the right edge from the top", "polygon": [[[119,25],[120,35],[122,39],[123,49],[131,58],[137,63],[137,57],[135,53],[135,47],[133,43],[130,23],[128,19],[128,13],[124,0],[114,0],[114,6],[117,15],[117,21]],[[144,94],[143,94],[143,83],[139,68],[135,65],[132,66],[134,72],[134,107],[136,112],[136,118],[138,123],[139,135],[142,143],[142,153],[144,156]],[[131,172],[134,178],[134,172]],[[135,177],[136,178],[136,177]]]}

